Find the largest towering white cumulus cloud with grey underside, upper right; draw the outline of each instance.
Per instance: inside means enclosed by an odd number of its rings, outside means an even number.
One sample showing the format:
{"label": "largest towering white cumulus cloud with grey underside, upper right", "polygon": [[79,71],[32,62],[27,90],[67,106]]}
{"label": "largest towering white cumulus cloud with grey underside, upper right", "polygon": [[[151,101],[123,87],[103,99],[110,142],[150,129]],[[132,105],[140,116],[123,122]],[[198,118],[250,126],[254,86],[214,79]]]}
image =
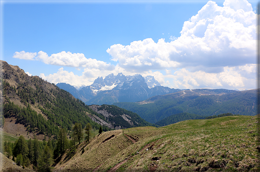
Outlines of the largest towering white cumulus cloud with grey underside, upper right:
{"label": "largest towering white cumulus cloud with grey underside, upper right", "polygon": [[227,0],[224,7],[208,1],[184,22],[180,33],[171,42],[147,38],[126,46],[114,44],[107,52],[122,68],[138,72],[184,67],[219,72],[255,61],[255,13],[248,1]]}

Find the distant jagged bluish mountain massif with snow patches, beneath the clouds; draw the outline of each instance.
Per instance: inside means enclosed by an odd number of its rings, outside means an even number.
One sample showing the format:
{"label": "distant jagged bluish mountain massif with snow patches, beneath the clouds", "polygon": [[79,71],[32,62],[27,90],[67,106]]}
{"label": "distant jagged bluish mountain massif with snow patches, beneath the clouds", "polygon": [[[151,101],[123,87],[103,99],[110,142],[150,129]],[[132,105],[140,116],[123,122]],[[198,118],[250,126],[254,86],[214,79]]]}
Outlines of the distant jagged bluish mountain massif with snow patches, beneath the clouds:
{"label": "distant jagged bluish mountain massif with snow patches, beneath the clouds", "polygon": [[113,104],[115,102],[137,102],[146,100],[152,96],[164,95],[180,91],[163,87],[154,76],[125,76],[109,74],[104,79],[98,77],[93,84],[73,89],[65,83],[58,83],[58,87],[70,92],[74,97],[81,99],[86,104]]}

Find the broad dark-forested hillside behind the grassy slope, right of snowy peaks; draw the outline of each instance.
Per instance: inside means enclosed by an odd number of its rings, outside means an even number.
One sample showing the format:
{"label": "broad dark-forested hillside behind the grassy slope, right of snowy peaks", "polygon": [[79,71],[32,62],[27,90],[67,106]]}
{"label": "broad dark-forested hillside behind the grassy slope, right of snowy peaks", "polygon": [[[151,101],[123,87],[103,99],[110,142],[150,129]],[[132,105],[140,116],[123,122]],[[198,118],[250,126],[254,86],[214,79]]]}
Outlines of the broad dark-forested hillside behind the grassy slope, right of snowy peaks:
{"label": "broad dark-forested hillside behind the grassy slope, right of snowy peaks", "polygon": [[[256,115],[256,91],[256,89],[246,91],[195,89],[154,96],[143,102],[119,102],[114,105],[135,112],[151,123],[179,113],[192,113],[200,116],[221,113]],[[189,118],[182,118],[180,121],[187,119]]]}

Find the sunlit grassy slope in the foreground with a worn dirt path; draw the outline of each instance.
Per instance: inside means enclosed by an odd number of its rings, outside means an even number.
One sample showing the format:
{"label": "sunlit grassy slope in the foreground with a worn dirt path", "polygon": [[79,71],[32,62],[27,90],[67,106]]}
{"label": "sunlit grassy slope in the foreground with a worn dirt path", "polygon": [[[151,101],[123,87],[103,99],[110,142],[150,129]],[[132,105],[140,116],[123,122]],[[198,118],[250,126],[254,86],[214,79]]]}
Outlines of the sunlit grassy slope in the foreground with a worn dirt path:
{"label": "sunlit grassy slope in the foreground with a worn dirt path", "polygon": [[228,116],[124,130],[135,143],[123,130],[104,132],[81,143],[74,158],[61,160],[56,169],[107,171],[121,162],[117,171],[259,171],[255,122],[255,116]]}

